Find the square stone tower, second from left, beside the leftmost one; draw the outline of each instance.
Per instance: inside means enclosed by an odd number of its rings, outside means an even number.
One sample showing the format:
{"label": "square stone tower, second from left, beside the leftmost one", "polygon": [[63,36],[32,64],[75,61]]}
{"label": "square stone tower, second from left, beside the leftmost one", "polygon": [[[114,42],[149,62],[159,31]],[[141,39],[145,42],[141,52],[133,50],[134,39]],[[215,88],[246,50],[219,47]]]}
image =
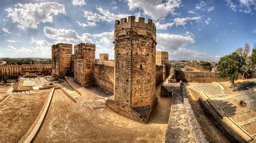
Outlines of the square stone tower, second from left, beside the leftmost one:
{"label": "square stone tower, second from left, beside the leftmost one", "polygon": [[95,44],[89,43],[75,45],[74,78],[82,86],[93,84],[95,47]]}

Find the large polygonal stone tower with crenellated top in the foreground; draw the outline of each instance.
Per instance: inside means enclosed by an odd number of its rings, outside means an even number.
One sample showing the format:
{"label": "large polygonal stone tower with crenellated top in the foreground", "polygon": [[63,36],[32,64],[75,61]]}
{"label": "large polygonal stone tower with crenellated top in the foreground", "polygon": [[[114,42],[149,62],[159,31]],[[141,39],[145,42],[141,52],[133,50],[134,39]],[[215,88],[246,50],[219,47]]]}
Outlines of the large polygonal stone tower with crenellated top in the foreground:
{"label": "large polygonal stone tower with crenellated top in the foreground", "polygon": [[156,26],[134,16],[114,25],[114,100],[107,106],[139,122],[149,118],[156,98]]}

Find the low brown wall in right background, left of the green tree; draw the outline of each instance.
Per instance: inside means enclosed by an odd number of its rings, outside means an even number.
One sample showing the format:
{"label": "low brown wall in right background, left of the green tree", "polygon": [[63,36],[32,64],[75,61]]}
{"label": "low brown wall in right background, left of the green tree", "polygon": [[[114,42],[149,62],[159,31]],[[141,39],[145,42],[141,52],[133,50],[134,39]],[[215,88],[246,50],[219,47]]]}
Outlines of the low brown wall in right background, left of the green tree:
{"label": "low brown wall in right background, left of the green tree", "polygon": [[221,78],[218,72],[195,72],[195,71],[176,71],[176,79],[189,83],[212,83],[228,81]]}

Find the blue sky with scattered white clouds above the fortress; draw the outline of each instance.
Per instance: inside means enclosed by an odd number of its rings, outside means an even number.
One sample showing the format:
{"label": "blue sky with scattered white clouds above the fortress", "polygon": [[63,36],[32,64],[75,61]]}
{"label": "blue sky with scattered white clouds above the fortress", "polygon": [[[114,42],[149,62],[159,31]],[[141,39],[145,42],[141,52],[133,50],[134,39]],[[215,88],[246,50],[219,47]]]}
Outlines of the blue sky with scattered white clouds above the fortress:
{"label": "blue sky with scattered white clouds above the fortress", "polygon": [[171,60],[219,60],[256,42],[256,0],[0,1],[0,57],[51,58],[51,45],[94,43],[113,59],[114,20],[152,19]]}

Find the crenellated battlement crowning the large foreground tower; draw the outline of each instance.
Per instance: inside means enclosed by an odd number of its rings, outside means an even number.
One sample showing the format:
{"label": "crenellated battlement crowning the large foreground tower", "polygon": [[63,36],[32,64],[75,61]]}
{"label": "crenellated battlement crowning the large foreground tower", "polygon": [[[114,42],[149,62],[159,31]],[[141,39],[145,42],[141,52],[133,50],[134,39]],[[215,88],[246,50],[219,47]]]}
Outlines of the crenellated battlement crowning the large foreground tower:
{"label": "crenellated battlement crowning the large foreground tower", "polygon": [[156,26],[151,19],[147,19],[147,23],[145,23],[145,18],[139,17],[139,22],[136,22],[135,16],[129,16],[128,21],[126,18],[122,18],[121,21],[117,20],[114,23],[114,31],[124,30],[131,27],[148,29],[156,35]]}

